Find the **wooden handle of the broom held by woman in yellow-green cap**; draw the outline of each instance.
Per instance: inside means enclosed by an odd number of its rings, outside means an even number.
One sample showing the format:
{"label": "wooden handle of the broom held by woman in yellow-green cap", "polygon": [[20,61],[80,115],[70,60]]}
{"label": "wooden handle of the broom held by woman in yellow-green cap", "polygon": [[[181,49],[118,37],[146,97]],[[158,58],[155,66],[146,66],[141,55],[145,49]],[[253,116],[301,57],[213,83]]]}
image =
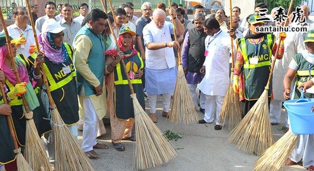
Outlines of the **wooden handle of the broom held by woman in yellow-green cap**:
{"label": "wooden handle of the broom held by woman in yellow-green cap", "polygon": [[[104,0],[100,0],[100,2],[101,2],[102,6],[103,6],[103,8],[104,8],[104,10],[105,10]],[[113,17],[114,23],[116,23],[116,22],[115,22],[114,11],[113,11],[113,9],[112,9],[111,0],[109,0],[108,2],[109,2],[109,6],[110,6],[110,10],[111,10],[111,13],[112,13],[112,17]],[[116,40],[116,37],[115,37],[115,34],[114,34],[114,32],[113,32],[111,23],[110,23],[110,21],[109,21],[109,18],[107,19],[107,22],[108,22],[108,25],[109,25],[111,34],[112,34],[112,36],[113,36],[113,39],[114,39],[116,48],[117,48],[118,50],[120,50],[120,49],[119,49],[119,46],[118,46],[118,43],[117,43],[117,40]],[[117,27],[115,27],[115,28],[116,28],[116,32],[117,32]],[[119,34],[119,33],[117,32],[117,34]],[[134,89],[133,89],[133,86],[132,86],[131,79],[130,79],[130,77],[129,77],[129,73],[127,72],[126,64],[124,63],[124,60],[123,60],[123,59],[122,59],[120,62],[121,62],[121,65],[123,66],[124,72],[125,72],[126,77],[127,77],[127,79],[128,79],[128,83],[129,83],[129,88],[130,88],[131,94],[134,94]]]}

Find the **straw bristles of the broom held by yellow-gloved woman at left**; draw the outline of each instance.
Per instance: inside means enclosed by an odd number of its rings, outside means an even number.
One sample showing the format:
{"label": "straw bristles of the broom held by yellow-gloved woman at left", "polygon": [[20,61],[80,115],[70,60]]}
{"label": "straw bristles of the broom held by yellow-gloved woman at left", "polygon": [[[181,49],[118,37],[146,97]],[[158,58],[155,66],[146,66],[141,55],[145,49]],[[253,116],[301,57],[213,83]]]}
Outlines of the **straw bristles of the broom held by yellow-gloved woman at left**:
{"label": "straw bristles of the broom held by yellow-gloved woman at left", "polygon": [[25,113],[26,136],[25,136],[25,160],[33,170],[52,170],[47,157],[45,147],[38,136],[33,112]]}

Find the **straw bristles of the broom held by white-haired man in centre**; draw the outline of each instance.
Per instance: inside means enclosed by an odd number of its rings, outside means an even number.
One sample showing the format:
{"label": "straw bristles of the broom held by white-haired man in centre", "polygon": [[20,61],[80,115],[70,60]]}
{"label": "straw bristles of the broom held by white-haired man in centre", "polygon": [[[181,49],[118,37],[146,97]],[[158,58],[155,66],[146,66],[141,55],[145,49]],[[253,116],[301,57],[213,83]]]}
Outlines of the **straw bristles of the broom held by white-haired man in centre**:
{"label": "straw bristles of the broom held by white-haired man in centre", "polygon": [[191,124],[197,123],[198,118],[192,96],[187,87],[182,64],[179,64],[169,119],[175,123],[183,121],[185,124]]}

